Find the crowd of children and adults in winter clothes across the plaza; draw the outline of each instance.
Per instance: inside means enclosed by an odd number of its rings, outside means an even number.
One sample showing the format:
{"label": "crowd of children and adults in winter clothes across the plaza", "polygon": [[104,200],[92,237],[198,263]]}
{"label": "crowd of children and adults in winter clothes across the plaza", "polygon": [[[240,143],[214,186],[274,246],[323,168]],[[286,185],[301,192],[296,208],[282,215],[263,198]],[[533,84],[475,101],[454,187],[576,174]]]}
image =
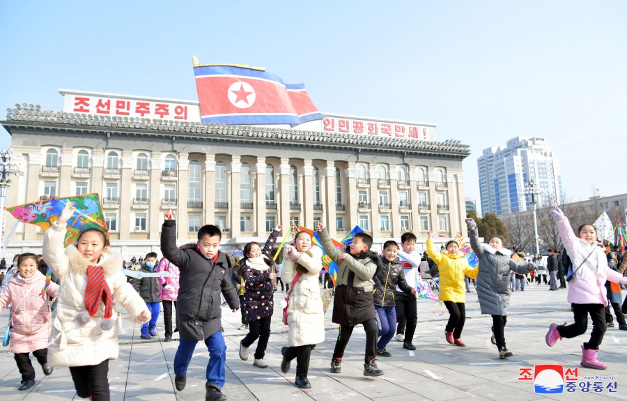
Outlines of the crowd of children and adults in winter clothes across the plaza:
{"label": "crowd of children and adults in winter clothes across the plaza", "polygon": [[[226,400],[222,393],[226,380],[222,306],[239,312],[241,328],[248,331],[240,341],[240,358],[247,361],[249,348],[256,342],[253,365],[268,368],[265,354],[279,285],[286,292],[283,320],[288,326],[280,369],[289,372],[291,362],[296,360],[295,386],[311,388],[311,351],[325,340],[320,284],[323,288],[334,287],[332,321],[339,325],[330,372],[342,372],[343,355],[353,330],[362,325],[366,334],[363,374],[378,377],[384,372],[377,358],[392,356],[386,348],[394,333],[405,349],[416,349],[412,339],[417,326],[421,265],[428,266],[423,276],[439,281],[438,296],[449,312],[444,340],[457,347],[466,346],[461,337],[465,296],[472,282],[481,313],[492,317],[492,342],[498,357],[512,356],[505,340],[511,292],[524,291],[529,276],[531,283],[544,282],[551,291],[568,289],[574,323],[551,324],[545,338],[548,346],[585,333],[590,317],[593,329],[589,341],[581,345],[581,365],[606,368],[598,360],[598,349],[607,326],[613,324],[610,307],[619,328],[627,330],[626,304],[621,305],[620,294],[620,286],[627,285],[623,274],[627,258],[610,244],[599,247],[596,229],[591,225],[579,227],[575,234],[557,207],[551,215],[564,251],[549,249],[547,257],[534,255],[530,260],[524,253],[506,248],[500,235],[480,241],[476,223],[466,219],[470,245],[479,259],[475,268],[460,253],[456,241],[447,241],[438,250],[433,232],[428,232],[424,254],[417,252],[417,237],[410,232],[401,236],[400,244],[386,241],[381,252],[373,250],[373,239],[364,232],[355,234],[347,248],[338,249],[322,222],[316,223],[322,249],[314,245],[309,232],[297,232],[281,254],[272,257],[282,229],[278,225],[263,248],[256,242],[247,243],[243,257],[235,261],[230,252],[219,250],[222,233],[215,225],[201,227],[195,243],[178,247],[176,220],[173,211],[168,211],[162,226],[162,258],[158,259],[155,252],[132,258],[130,263],[139,264],[139,273],[143,273],[132,279],[123,273],[121,255],[99,229],[82,232],[75,244],[64,247],[66,222],[73,213],[75,206],[68,204],[47,230],[42,255],[16,255],[10,268],[0,275],[0,309],[11,309],[10,351],[22,374],[20,390],[36,383],[29,356],[32,353],[46,375],[52,374],[55,367],[70,368],[79,397],[109,400],[107,374],[109,360],[118,357],[116,320],[121,314],[115,305],[119,305],[141,325],[140,337],[145,340],[157,336],[163,308],[163,340],[169,342],[173,333],[179,333],[173,361],[178,391],[186,386],[187,368],[196,345],[204,342],[209,352],[206,400]],[[328,275],[321,276],[323,250],[338,266],[335,282]],[[282,263],[277,265],[274,259]],[[4,259],[0,267],[3,265]],[[52,310],[56,310],[55,319]]]}

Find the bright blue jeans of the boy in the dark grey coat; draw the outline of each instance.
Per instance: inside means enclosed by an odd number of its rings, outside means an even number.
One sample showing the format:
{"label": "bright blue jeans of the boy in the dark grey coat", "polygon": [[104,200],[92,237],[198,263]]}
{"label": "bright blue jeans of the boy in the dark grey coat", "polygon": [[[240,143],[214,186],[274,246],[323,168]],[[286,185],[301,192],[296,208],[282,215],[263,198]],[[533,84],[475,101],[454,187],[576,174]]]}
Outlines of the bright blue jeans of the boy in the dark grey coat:
{"label": "bright blue jeans of the boy in the dark grey coat", "polygon": [[[197,343],[198,340],[187,340],[185,338],[178,340],[178,349],[174,356],[174,374],[178,377],[187,375],[187,367],[189,362],[192,361],[192,354],[194,354],[194,348],[196,348]],[[224,337],[222,337],[222,331],[217,331],[206,338],[205,345],[209,350],[207,381],[222,388],[226,379],[226,370],[224,369],[224,363],[226,363],[226,343],[224,342]]]}

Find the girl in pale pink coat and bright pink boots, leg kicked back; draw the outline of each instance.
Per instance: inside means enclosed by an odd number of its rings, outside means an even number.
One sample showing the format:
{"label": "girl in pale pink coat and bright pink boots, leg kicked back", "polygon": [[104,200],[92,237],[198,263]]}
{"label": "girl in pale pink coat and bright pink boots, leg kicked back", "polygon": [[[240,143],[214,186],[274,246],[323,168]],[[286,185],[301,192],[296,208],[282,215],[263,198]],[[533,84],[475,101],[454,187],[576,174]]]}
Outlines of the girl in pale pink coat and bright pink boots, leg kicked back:
{"label": "girl in pale pink coat and bright pink boots, leg kicked back", "polygon": [[605,334],[605,281],[610,280],[620,284],[627,284],[627,278],[607,266],[607,258],[603,248],[596,245],[596,229],[585,224],[577,230],[575,236],[568,218],[559,207],[553,206],[550,211],[552,218],[557,222],[557,230],[562,238],[564,248],[573,262],[572,275],[568,284],[568,302],[573,307],[575,323],[566,326],[566,323],[551,324],[546,334],[546,344],[555,345],[562,338],[573,338],[582,335],[588,328],[588,315],[592,320],[590,340],[581,346],[581,365],[586,368],[605,369],[607,365],[598,361],[598,346],[603,342]]}

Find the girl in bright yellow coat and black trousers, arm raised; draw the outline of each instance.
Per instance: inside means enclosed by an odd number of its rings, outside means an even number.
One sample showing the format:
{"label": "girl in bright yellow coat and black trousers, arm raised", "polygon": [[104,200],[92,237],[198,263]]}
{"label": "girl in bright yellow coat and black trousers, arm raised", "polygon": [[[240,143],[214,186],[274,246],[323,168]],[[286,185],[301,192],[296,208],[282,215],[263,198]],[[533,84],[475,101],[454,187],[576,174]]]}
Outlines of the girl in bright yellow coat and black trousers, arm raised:
{"label": "girl in bright yellow coat and black trousers, arm raised", "polygon": [[440,253],[433,246],[433,231],[427,233],[427,255],[440,268],[440,301],[444,302],[451,316],[445,328],[445,335],[449,344],[465,347],[460,340],[461,332],[466,321],[466,288],[464,275],[474,273],[467,260],[459,253],[456,241],[449,241],[444,246],[447,253]]}

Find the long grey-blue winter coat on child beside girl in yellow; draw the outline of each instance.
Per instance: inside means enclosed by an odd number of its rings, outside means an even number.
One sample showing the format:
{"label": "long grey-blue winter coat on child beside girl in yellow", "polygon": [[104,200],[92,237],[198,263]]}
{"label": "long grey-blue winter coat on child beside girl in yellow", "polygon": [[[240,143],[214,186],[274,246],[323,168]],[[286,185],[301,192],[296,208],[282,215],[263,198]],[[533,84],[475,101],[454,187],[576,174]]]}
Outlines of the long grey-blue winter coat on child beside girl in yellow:
{"label": "long grey-blue winter coat on child beside girl in yellow", "polygon": [[477,297],[483,315],[506,316],[509,307],[509,271],[527,274],[536,267],[527,267],[527,262],[511,259],[511,250],[502,248],[497,252],[487,243],[479,242],[477,226],[469,229],[470,246],[479,258],[479,266],[470,278],[477,279]]}

